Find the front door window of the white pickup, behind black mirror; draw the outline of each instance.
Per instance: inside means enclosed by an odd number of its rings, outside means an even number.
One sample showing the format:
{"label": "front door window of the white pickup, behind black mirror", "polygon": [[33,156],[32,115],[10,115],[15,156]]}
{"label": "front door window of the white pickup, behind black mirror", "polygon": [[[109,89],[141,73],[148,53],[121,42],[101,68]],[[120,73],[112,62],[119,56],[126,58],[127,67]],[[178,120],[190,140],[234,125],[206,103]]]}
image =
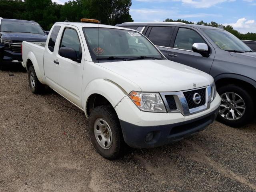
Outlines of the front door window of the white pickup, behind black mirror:
{"label": "front door window of the white pickup, behind black mirror", "polygon": [[70,28],[66,28],[64,30],[62,41],[60,43],[60,48],[61,47],[68,47],[74,49],[76,51],[77,57],[81,58],[82,48],[76,30]]}

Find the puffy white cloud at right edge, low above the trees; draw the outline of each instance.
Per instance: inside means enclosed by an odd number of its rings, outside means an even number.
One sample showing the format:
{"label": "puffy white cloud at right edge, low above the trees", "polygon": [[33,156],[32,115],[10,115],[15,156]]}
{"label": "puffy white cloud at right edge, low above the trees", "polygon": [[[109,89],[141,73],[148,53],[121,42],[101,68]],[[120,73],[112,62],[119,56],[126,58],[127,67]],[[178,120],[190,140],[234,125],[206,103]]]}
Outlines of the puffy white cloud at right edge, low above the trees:
{"label": "puffy white cloud at right edge, low above the trees", "polygon": [[235,30],[238,30],[241,33],[256,32],[255,21],[247,20],[246,18],[240,18],[235,23],[224,23],[223,25],[231,25]]}

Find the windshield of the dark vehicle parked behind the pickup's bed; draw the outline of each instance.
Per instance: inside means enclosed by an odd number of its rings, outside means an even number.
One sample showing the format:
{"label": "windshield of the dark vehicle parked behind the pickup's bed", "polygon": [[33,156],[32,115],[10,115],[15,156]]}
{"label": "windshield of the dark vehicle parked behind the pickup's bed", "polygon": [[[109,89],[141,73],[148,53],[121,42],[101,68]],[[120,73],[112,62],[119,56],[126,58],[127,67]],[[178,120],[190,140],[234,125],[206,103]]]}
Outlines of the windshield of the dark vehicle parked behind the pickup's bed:
{"label": "windshield of the dark vehicle parked behind the pickup's bed", "polygon": [[20,33],[34,33],[45,34],[41,26],[36,22],[22,22],[22,21],[2,21],[2,32],[20,32]]}

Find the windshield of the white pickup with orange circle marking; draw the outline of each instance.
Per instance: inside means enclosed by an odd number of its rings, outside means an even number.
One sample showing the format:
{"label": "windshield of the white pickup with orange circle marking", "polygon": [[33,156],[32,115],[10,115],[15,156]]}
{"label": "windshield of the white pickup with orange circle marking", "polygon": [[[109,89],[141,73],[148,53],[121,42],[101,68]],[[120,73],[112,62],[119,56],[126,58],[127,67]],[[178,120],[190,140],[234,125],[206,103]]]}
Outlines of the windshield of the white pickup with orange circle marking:
{"label": "windshield of the white pickup with orange circle marking", "polygon": [[83,28],[83,31],[94,62],[164,59],[153,44],[136,31],[114,28]]}

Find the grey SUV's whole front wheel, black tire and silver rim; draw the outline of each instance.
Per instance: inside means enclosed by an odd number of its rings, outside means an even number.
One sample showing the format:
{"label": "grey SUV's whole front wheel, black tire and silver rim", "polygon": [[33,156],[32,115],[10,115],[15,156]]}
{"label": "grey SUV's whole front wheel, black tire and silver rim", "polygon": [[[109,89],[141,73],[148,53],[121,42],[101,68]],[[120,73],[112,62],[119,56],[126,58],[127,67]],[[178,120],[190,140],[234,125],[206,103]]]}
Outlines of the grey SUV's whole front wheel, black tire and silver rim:
{"label": "grey SUV's whole front wheel, black tire and silver rim", "polygon": [[252,120],[255,105],[248,90],[236,85],[227,85],[217,91],[221,98],[218,121],[231,127],[240,127]]}

